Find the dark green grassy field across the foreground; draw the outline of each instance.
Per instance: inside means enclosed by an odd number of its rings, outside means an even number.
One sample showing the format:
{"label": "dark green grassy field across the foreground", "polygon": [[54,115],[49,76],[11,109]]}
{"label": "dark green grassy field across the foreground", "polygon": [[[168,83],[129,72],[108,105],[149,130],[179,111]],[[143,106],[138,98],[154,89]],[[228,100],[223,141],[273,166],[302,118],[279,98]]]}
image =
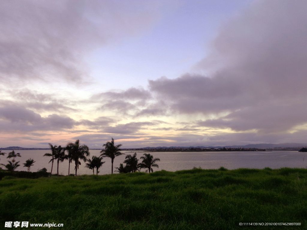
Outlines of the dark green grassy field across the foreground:
{"label": "dark green grassy field across the foreground", "polygon": [[5,221],[64,224],[50,229],[307,229],[307,169],[6,176],[0,181],[0,220],[0,229],[9,229]]}

